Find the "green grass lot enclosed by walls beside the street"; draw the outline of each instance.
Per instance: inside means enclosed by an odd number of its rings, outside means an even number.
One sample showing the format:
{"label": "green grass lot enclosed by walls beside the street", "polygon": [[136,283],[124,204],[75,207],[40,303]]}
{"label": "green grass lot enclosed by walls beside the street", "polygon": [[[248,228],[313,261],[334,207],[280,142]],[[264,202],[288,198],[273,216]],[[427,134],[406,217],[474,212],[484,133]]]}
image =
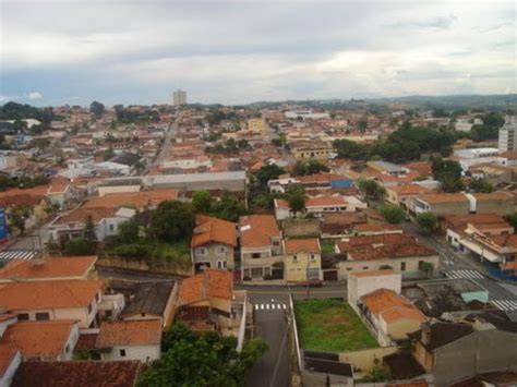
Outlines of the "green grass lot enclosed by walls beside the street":
{"label": "green grass lot enclosed by walls beside the street", "polygon": [[338,300],[294,303],[300,346],[306,350],[346,352],[378,347],[350,305]]}

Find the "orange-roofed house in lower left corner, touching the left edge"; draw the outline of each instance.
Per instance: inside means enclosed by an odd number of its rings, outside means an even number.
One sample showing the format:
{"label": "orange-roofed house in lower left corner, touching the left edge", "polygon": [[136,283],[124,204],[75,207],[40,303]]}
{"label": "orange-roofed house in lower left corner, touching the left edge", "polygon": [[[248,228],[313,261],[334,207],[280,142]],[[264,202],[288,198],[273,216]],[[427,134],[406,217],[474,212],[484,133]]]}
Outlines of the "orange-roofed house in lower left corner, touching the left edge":
{"label": "orange-roofed house in lower left corner, touching the left edge", "polygon": [[16,322],[2,334],[0,343],[22,352],[24,360],[67,361],[79,339],[79,324],[71,319]]}

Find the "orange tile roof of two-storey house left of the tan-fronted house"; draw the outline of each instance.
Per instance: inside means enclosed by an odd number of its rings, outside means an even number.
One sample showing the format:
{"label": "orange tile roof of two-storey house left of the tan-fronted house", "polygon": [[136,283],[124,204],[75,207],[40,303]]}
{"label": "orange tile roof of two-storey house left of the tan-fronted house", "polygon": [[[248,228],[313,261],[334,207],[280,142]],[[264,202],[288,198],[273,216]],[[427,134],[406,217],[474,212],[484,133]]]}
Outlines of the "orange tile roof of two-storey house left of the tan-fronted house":
{"label": "orange tile roof of two-storey house left of the tan-fronted house", "polygon": [[237,225],[211,216],[197,215],[195,217],[195,228],[191,240],[191,247],[197,247],[208,243],[237,246]]}

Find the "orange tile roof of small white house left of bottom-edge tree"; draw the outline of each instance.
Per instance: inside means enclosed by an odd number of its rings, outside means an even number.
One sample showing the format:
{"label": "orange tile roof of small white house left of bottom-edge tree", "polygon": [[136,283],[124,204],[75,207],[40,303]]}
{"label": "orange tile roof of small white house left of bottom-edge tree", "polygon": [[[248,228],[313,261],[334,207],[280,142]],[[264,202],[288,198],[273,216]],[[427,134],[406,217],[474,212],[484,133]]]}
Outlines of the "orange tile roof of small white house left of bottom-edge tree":
{"label": "orange tile roof of small white house left of bottom-edge tree", "polygon": [[95,347],[159,344],[160,340],[159,319],[104,322],[100,324]]}

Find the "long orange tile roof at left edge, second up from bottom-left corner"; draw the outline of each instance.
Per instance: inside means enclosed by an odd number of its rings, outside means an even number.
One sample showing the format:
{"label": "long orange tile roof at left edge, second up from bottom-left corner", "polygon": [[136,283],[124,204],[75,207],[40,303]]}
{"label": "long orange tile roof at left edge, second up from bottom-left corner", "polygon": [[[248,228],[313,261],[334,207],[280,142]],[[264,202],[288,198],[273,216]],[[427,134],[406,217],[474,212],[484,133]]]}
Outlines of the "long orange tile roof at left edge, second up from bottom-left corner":
{"label": "long orange tile roof at left edge, second up from bottom-left corner", "polygon": [[0,286],[0,309],[85,307],[101,289],[101,281],[79,279],[5,283]]}

